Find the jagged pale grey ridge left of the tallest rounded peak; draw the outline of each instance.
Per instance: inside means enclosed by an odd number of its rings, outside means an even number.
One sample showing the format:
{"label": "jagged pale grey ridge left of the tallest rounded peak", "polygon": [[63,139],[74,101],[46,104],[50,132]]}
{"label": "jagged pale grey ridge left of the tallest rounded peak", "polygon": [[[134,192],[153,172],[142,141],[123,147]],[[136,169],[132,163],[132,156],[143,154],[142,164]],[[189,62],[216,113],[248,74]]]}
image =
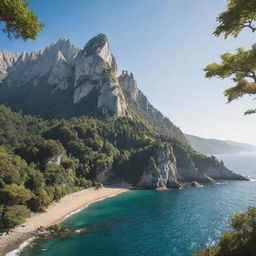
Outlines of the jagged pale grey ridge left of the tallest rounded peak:
{"label": "jagged pale grey ridge left of the tallest rounded peak", "polygon": [[40,79],[47,76],[49,84],[66,88],[66,80],[72,76],[72,64],[78,51],[69,40],[60,39],[42,50],[22,53],[8,69],[6,82],[10,87],[23,86],[28,82],[36,86]]}

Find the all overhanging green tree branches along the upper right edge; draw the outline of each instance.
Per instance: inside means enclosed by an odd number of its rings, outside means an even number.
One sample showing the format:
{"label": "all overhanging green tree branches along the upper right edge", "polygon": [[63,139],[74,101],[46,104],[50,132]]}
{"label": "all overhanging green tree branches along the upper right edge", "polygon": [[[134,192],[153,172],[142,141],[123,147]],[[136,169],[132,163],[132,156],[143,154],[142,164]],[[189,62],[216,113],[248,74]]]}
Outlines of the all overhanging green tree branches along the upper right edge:
{"label": "all overhanging green tree branches along the upper right edge", "polygon": [[[256,20],[255,0],[228,0],[228,9],[221,13],[217,20],[220,25],[214,34],[237,36],[243,28],[250,28],[252,32],[256,30],[254,22]],[[256,45],[250,50],[239,48],[235,54],[229,52],[221,55],[222,63],[212,63],[204,71],[207,78],[218,77],[221,79],[231,77],[235,85],[225,90],[224,94],[228,98],[228,103],[239,99],[244,95],[254,95],[256,93]],[[245,114],[256,113],[256,109],[249,109]]]}

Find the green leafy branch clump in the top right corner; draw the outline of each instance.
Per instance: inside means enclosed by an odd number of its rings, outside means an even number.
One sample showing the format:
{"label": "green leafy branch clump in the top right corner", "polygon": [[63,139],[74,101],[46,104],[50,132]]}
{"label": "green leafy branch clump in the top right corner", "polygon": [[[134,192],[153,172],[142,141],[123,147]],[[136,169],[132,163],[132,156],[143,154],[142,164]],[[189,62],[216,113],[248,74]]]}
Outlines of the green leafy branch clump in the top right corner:
{"label": "green leafy branch clump in the top right corner", "polygon": [[222,12],[217,21],[219,26],[214,31],[216,36],[224,34],[237,37],[244,28],[255,32],[256,26],[256,1],[255,0],[228,0],[227,10]]}

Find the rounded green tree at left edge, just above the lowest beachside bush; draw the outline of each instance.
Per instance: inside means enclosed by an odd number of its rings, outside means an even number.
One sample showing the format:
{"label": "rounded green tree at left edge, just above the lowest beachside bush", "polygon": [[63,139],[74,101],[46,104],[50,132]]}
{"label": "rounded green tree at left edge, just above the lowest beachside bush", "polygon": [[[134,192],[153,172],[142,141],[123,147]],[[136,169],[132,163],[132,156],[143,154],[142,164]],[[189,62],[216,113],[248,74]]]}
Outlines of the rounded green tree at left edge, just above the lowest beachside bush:
{"label": "rounded green tree at left edge, just above the lowest beachside bush", "polygon": [[6,185],[0,190],[0,204],[25,204],[31,198],[31,192],[16,184]]}

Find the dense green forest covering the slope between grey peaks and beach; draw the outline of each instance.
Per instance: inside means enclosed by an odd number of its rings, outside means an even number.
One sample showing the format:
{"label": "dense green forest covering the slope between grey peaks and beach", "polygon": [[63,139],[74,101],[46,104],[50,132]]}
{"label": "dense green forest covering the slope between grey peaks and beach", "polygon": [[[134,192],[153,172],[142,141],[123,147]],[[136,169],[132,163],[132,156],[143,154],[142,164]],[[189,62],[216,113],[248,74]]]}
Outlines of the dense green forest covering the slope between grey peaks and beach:
{"label": "dense green forest covering the slope between grey peaks and beach", "polygon": [[173,152],[178,167],[218,164],[124,117],[43,120],[0,106],[0,127],[1,228],[24,222],[31,211],[44,211],[68,193],[100,186],[97,175],[105,170],[111,170],[108,182],[136,185],[160,143]]}

